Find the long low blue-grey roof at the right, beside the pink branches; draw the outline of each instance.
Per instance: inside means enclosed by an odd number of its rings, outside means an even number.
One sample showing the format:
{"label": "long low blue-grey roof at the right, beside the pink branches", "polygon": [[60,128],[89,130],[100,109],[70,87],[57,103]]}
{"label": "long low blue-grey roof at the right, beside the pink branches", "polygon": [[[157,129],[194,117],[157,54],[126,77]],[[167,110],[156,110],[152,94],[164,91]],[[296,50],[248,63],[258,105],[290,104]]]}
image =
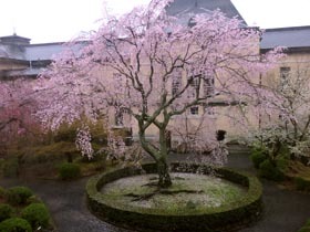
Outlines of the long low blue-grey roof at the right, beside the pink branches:
{"label": "long low blue-grey roof at the right, beside the pink branches", "polygon": [[286,46],[288,49],[309,49],[310,25],[267,29],[262,34],[260,49],[269,50],[276,46]]}

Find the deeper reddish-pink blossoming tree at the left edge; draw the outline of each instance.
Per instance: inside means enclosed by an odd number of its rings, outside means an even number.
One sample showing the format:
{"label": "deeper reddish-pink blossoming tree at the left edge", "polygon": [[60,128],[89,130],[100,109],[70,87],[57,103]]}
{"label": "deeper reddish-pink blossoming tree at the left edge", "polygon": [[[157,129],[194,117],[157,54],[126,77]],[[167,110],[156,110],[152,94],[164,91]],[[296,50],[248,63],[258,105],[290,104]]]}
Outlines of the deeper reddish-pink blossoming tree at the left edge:
{"label": "deeper reddish-pink blossoming tree at the left edge", "polygon": [[33,117],[37,107],[31,81],[0,80],[0,143],[17,146],[21,136],[30,143],[37,139],[40,123]]}

